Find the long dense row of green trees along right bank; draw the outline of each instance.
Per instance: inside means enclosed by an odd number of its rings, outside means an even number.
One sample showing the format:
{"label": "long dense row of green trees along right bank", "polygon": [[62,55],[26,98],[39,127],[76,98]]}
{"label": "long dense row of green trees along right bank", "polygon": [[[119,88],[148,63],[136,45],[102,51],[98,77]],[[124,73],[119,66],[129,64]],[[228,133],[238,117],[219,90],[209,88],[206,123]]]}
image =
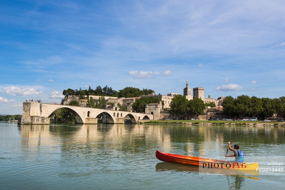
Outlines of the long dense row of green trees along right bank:
{"label": "long dense row of green trees along right bank", "polygon": [[236,98],[227,96],[222,102],[223,111],[230,117],[257,117],[266,119],[274,114],[285,117],[285,97],[257,98],[256,96],[240,95]]}

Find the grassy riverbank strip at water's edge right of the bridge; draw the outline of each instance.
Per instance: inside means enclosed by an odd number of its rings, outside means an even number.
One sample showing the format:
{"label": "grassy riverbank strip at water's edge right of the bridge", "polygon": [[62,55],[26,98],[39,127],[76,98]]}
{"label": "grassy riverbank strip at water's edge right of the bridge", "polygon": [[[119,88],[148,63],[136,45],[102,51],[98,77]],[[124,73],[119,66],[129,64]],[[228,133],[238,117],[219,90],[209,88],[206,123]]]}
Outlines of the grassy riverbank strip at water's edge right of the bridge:
{"label": "grassy riverbank strip at water's edge right of the bridge", "polygon": [[285,126],[285,122],[263,121],[208,121],[208,120],[140,120],[143,124],[188,124],[188,125],[241,125],[241,126]]}

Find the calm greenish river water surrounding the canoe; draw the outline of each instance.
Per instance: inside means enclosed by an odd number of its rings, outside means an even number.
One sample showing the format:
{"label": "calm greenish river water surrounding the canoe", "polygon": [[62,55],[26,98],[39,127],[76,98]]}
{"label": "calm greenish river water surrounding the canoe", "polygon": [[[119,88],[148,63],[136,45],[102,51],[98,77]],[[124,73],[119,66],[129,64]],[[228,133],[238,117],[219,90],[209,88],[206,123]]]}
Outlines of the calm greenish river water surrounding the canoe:
{"label": "calm greenish river water surrounding the canoe", "polygon": [[201,173],[155,157],[161,150],[223,160],[228,141],[246,162],[285,170],[284,127],[0,122],[0,189],[284,188],[284,171]]}

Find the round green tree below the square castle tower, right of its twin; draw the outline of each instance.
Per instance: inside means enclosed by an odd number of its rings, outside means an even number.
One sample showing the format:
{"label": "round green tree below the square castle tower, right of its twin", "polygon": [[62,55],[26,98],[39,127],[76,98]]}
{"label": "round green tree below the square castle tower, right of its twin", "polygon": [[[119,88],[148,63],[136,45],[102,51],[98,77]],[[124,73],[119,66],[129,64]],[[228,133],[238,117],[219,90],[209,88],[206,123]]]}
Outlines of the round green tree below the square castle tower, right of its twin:
{"label": "round green tree below the square castle tower, right of its twin", "polygon": [[195,118],[197,118],[198,115],[204,114],[205,109],[206,104],[201,98],[195,98],[188,101],[187,111],[190,115],[195,116]]}

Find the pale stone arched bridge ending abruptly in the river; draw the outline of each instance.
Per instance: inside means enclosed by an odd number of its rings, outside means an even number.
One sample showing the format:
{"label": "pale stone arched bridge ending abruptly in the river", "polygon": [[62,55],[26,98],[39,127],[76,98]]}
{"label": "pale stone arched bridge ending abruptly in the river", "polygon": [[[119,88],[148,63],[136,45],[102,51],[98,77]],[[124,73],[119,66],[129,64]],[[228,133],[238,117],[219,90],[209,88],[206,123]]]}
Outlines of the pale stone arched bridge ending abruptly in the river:
{"label": "pale stone arched bridge ending abruptly in the river", "polygon": [[23,114],[19,124],[49,124],[49,116],[60,108],[70,111],[75,117],[75,123],[96,124],[98,118],[103,123],[137,123],[140,119],[153,120],[153,115],[118,110],[105,110],[90,107],[68,106],[61,104],[46,104],[38,102],[24,102]]}

